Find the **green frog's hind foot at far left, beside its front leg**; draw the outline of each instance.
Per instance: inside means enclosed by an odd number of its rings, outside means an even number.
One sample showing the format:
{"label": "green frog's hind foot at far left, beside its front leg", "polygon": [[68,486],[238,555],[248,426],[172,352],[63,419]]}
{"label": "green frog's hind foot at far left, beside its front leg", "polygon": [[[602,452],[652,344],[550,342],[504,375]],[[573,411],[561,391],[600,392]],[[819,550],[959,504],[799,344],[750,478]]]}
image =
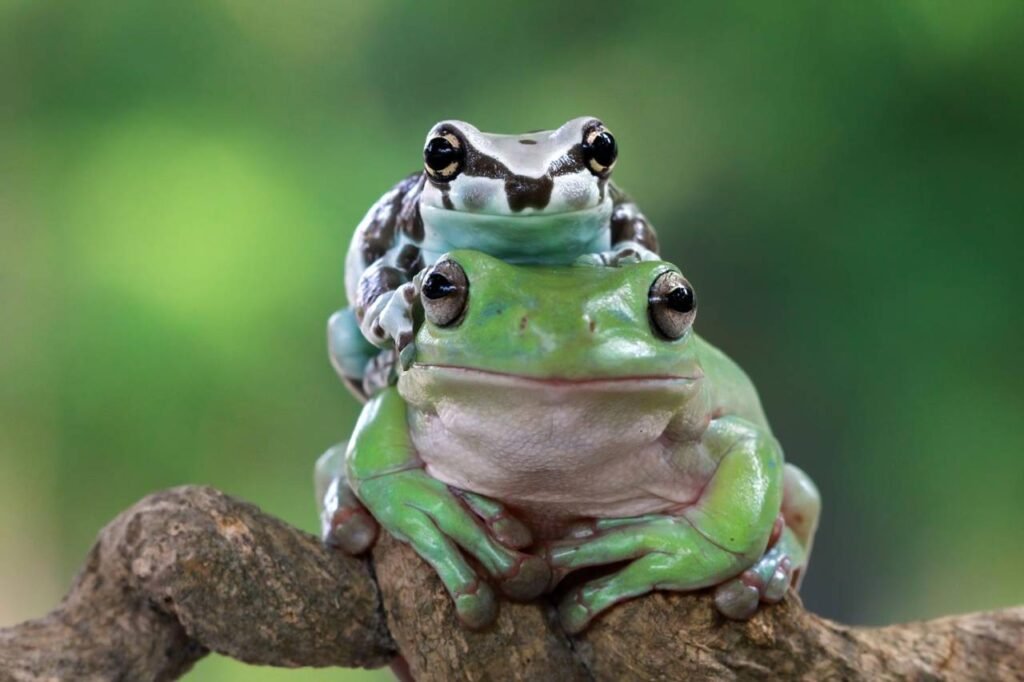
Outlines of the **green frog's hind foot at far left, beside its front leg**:
{"label": "green frog's hind foot at far left, beside its front leg", "polygon": [[316,460],[313,483],[324,543],[347,554],[361,554],[377,540],[379,526],[352,493],[345,477],[347,442],[329,449]]}

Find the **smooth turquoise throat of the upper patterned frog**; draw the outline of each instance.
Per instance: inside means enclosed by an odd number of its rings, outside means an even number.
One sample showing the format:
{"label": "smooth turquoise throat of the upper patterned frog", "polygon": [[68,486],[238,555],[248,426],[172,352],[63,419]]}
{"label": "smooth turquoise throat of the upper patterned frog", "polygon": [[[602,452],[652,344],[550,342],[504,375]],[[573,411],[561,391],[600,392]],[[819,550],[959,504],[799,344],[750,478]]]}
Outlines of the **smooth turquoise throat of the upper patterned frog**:
{"label": "smooth turquoise throat of the upper patterned frog", "polygon": [[611,202],[565,213],[497,215],[422,206],[426,262],[457,249],[482,251],[509,263],[568,265],[611,248]]}

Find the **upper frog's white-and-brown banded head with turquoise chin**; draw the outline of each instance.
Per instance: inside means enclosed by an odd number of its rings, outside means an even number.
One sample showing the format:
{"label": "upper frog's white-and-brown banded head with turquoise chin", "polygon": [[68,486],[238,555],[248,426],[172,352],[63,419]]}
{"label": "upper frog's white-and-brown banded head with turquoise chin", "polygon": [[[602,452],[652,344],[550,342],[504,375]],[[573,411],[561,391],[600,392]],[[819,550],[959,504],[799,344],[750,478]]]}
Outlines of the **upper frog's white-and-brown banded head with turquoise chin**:
{"label": "upper frog's white-and-brown banded head with turquoise chin", "polygon": [[[540,262],[554,262],[573,247],[569,261],[599,250],[593,243],[611,213],[607,184],[616,156],[615,138],[593,117],[521,135],[442,121],[423,148],[424,248],[438,254],[476,248],[508,260],[529,241],[535,262],[538,254]],[[551,259],[544,257],[549,241]]]}

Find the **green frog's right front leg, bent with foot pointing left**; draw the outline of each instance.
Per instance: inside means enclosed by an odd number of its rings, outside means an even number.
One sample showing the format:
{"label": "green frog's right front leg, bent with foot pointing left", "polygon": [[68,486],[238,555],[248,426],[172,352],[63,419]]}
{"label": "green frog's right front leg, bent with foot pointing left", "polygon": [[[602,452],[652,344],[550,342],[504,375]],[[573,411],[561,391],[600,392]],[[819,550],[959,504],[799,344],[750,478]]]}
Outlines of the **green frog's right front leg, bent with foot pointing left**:
{"label": "green frog's right front leg, bent with foot pointing left", "polygon": [[675,514],[599,521],[591,537],[547,548],[556,573],[620,561],[625,568],[572,589],[559,606],[570,633],[613,604],[652,590],[695,590],[740,573],[764,552],[779,512],[782,457],[774,438],[726,417],[703,436],[718,468],[699,499]]}

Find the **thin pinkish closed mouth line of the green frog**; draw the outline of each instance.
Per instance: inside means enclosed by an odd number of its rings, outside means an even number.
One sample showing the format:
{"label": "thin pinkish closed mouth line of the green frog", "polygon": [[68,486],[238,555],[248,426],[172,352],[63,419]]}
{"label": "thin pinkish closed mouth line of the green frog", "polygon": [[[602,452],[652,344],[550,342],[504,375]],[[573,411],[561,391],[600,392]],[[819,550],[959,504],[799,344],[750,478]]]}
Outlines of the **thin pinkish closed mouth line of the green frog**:
{"label": "thin pinkish closed mouth line of the green frog", "polygon": [[473,367],[461,367],[457,365],[433,365],[424,363],[414,363],[409,369],[409,373],[426,373],[436,379],[457,381],[462,383],[492,383],[506,385],[536,385],[550,388],[564,389],[602,389],[602,388],[628,388],[642,389],[645,386],[671,387],[678,386],[684,388],[694,381],[702,378],[700,376],[682,375],[629,375],[629,376],[604,376],[604,377],[556,377],[556,376],[528,376],[524,374],[513,374],[510,372],[498,372],[495,370],[484,370]]}

